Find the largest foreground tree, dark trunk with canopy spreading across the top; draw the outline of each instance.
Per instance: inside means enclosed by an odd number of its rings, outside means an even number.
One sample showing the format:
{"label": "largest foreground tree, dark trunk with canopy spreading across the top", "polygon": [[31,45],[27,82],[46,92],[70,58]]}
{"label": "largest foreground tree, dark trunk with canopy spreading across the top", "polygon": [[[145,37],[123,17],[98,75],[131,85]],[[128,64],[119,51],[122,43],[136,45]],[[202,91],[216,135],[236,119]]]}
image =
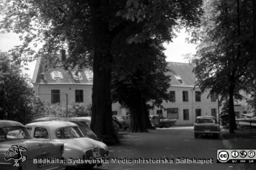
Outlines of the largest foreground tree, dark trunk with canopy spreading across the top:
{"label": "largest foreground tree, dark trunk with canopy spreading across the top", "polygon": [[202,1],[8,0],[3,3],[6,7],[1,10],[4,20],[0,27],[23,33],[24,45],[17,48],[18,57],[27,52],[28,59],[33,52],[29,43],[39,40],[43,47],[38,55],[49,61],[56,61],[52,58],[65,49],[70,56],[68,66],[92,64],[92,130],[97,135],[111,136],[114,131],[110,82],[115,40],[124,37],[128,43],[145,42],[149,38],[161,43],[170,41],[179,23],[188,27],[198,24]]}

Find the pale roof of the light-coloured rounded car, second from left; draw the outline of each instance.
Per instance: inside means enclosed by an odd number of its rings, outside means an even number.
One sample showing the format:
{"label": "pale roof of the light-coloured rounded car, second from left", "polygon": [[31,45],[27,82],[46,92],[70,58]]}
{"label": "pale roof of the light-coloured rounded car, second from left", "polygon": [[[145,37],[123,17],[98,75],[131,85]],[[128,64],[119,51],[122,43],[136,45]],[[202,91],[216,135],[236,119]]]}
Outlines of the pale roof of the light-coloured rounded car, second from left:
{"label": "pale roof of the light-coloured rounded car, second from left", "polygon": [[60,127],[78,127],[76,123],[70,121],[36,121],[29,123],[27,126],[40,126],[40,127],[51,127],[51,128],[60,128]]}

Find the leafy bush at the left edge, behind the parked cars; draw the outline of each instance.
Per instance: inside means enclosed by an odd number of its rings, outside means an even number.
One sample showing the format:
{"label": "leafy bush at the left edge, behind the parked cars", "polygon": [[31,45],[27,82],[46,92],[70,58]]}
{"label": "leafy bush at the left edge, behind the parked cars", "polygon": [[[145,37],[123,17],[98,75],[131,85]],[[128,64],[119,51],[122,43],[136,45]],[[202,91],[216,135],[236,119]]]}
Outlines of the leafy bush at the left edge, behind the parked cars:
{"label": "leafy bush at the left edge, behind the parked cars", "polygon": [[3,120],[28,123],[35,114],[44,110],[28,77],[22,75],[20,66],[4,52],[0,52],[0,94],[0,118]]}

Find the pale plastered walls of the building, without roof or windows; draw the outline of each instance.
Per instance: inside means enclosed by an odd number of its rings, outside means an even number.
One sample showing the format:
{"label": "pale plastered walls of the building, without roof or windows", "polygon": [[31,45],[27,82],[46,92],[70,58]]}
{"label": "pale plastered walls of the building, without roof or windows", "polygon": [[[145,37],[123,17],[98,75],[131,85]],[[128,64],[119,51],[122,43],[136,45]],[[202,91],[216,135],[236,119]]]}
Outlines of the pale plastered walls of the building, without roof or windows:
{"label": "pale plastered walls of the building, without roof or windows", "polygon": [[[51,90],[60,89],[61,97],[60,102],[66,104],[68,94],[68,104],[75,102],[75,90],[83,89],[84,104],[92,103],[92,85],[87,84],[34,84],[35,91],[39,94],[40,98],[44,102],[51,104]],[[215,108],[218,116],[218,101],[211,102],[211,98],[207,98],[208,91],[202,93],[201,102],[195,101],[195,91],[199,89],[193,89],[191,87],[170,87],[168,91],[175,91],[175,102],[163,102],[163,107],[167,108],[179,108],[179,119],[177,119],[176,125],[191,125],[195,122],[195,109],[201,109],[202,116],[211,116],[211,109]],[[182,91],[188,91],[188,102],[182,101]],[[150,110],[150,114],[156,114],[160,108],[154,107]],[[183,109],[189,109],[189,120],[184,120]],[[119,103],[112,104],[112,111],[117,111],[118,115],[126,115],[127,109],[121,107]],[[167,111],[163,110],[163,116],[167,117]]]}

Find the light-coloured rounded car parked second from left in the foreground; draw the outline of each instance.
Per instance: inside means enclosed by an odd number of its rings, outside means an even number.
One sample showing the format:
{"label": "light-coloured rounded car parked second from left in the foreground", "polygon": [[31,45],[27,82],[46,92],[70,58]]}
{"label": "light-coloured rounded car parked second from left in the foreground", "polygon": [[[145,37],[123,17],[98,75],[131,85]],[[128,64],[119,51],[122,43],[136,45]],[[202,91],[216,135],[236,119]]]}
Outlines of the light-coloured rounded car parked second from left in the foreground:
{"label": "light-coloured rounded car parked second from left in the foreground", "polygon": [[[64,143],[63,157],[68,168],[84,166],[91,169],[96,164],[88,164],[83,160],[97,160],[98,158],[108,157],[108,146],[100,141],[84,137],[75,123],[69,121],[38,121],[29,123],[26,128],[35,139]],[[101,164],[97,164],[97,166],[101,166]]]}

